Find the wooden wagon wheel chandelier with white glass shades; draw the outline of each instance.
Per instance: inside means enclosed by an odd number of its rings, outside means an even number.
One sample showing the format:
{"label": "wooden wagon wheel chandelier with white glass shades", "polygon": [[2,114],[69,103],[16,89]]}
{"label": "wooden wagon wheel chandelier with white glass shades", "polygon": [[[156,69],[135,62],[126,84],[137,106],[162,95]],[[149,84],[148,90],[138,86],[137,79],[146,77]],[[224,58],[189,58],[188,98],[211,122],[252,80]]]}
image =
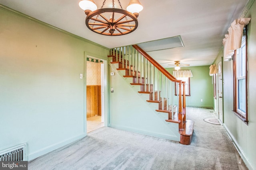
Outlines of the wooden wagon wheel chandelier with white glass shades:
{"label": "wooden wagon wheel chandelier with white glass shades", "polygon": [[139,12],[143,6],[139,0],[130,0],[126,10],[123,10],[120,1],[118,0],[119,8],[114,8],[114,0],[112,0],[112,8],[103,8],[106,0],[104,0],[100,9],[94,0],[81,0],[80,8],[86,14],[86,26],[95,33],[102,35],[125,35],[131,33],[138,27]]}

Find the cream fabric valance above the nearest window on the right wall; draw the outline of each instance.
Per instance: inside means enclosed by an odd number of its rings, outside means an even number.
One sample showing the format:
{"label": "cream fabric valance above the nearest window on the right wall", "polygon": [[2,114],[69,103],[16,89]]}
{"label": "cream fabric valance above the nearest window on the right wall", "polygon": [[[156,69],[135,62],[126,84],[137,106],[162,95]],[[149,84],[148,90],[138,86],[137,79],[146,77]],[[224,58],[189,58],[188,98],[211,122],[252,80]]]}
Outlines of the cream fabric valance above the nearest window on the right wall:
{"label": "cream fabric valance above the nearest window on the right wall", "polygon": [[228,34],[225,35],[222,43],[224,45],[224,58],[231,58],[234,50],[241,48],[244,25],[250,22],[251,18],[236,19],[228,28]]}

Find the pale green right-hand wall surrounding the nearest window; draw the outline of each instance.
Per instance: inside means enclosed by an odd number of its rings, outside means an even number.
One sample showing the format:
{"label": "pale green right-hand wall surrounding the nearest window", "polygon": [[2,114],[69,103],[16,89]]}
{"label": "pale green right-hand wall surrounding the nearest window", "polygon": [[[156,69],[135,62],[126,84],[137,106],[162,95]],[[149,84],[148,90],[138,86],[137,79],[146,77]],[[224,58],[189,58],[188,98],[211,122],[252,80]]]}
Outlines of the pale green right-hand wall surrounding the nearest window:
{"label": "pale green right-hand wall surrounding the nearest window", "polygon": [[[251,1],[250,1],[251,2]],[[251,18],[248,25],[248,119],[243,123],[233,112],[233,72],[232,61],[223,62],[223,115],[224,127],[232,137],[235,145],[242,154],[242,158],[249,169],[256,169],[256,2],[244,18]],[[223,49],[217,56],[215,64],[223,57]],[[217,96],[218,97],[218,96]],[[215,106],[218,108],[218,105]]]}

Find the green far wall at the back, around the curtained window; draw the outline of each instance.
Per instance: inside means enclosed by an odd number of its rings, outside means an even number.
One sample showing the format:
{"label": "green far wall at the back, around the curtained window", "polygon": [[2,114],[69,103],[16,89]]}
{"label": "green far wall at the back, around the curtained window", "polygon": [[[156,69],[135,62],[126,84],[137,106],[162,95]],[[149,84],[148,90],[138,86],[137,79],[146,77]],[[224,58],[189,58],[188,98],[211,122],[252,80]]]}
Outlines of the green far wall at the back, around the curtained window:
{"label": "green far wall at the back, around the curtained window", "polygon": [[[212,76],[209,76],[210,66],[181,67],[180,70],[191,70],[190,96],[186,96],[186,106],[213,108]],[[174,68],[166,68],[172,74]],[[203,102],[201,102],[201,99]]]}

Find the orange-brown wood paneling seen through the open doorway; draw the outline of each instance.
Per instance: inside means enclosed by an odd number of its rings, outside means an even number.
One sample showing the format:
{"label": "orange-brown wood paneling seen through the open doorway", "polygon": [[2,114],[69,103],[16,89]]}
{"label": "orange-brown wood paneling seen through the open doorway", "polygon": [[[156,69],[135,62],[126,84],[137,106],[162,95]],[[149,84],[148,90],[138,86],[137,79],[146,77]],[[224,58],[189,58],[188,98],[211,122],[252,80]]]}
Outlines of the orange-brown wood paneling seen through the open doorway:
{"label": "orange-brown wood paneling seen through the open doorway", "polygon": [[87,118],[101,115],[101,86],[86,86]]}

